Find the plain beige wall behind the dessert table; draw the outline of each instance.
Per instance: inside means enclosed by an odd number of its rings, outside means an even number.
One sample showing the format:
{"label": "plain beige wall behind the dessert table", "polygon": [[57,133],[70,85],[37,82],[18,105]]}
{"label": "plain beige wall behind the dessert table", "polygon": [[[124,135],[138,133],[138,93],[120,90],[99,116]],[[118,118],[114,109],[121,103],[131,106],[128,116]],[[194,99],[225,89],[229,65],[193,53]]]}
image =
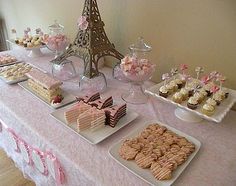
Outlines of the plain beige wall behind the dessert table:
{"label": "plain beige wall behind the dessert table", "polygon": [[[105,30],[123,54],[143,36],[153,46],[155,81],[179,63],[205,67],[228,77],[236,89],[235,0],[97,0]],[[71,39],[83,0],[0,0],[0,16],[8,33],[47,26],[57,19]],[[10,34],[10,33],[9,33]],[[110,58],[109,58],[110,60]]]}

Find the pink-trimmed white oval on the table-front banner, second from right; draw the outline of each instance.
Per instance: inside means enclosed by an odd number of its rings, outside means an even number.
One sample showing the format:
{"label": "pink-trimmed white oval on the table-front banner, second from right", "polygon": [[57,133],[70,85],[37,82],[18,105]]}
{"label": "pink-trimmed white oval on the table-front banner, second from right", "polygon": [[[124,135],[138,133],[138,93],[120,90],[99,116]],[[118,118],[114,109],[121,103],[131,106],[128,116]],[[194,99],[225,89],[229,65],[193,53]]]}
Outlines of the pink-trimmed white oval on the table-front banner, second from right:
{"label": "pink-trimmed white oval on the table-front banner, second from right", "polygon": [[[33,163],[35,165],[35,167],[45,176],[48,175],[48,169],[46,166],[46,162],[45,162],[45,153],[42,152],[41,150],[37,149],[37,148],[32,148],[32,160]],[[38,161],[41,161],[41,165],[39,165]]]}

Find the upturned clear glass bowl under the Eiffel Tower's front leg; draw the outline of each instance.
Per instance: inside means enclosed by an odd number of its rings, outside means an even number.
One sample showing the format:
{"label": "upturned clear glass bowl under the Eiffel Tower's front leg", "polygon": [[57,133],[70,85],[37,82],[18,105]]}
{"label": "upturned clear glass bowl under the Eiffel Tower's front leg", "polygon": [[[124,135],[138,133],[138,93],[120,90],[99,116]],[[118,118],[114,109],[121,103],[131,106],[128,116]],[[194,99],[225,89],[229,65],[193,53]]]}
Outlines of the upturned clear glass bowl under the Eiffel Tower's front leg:
{"label": "upturned clear glass bowl under the Eiffel Tower's front leg", "polygon": [[82,76],[79,82],[80,91],[83,93],[104,92],[107,88],[107,80],[103,73],[99,74],[91,79],[86,76]]}

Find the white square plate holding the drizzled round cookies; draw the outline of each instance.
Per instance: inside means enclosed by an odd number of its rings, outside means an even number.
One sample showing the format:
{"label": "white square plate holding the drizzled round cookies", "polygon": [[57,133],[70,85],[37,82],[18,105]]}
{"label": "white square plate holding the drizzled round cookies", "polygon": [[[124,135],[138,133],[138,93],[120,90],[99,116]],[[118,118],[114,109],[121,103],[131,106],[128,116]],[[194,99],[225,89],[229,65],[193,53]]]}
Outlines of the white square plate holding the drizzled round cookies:
{"label": "white square plate holding the drizzled round cookies", "polygon": [[[123,141],[126,140],[126,139],[130,139],[132,137],[138,136],[139,133],[143,129],[145,129],[151,123],[158,123],[160,125],[163,125],[163,126],[167,127],[168,129],[170,129],[171,131],[175,132],[176,134],[185,137],[188,141],[190,141],[190,142],[195,144],[195,151],[188,157],[188,159],[187,159],[187,161],[185,163],[183,163],[181,166],[178,166],[178,168],[173,172],[172,178],[170,180],[166,180],[166,181],[156,180],[150,170],[142,169],[142,168],[138,167],[138,165],[135,163],[135,161],[124,160],[119,155],[119,148],[122,145]],[[187,135],[187,134],[185,134],[185,133],[183,133],[183,132],[181,132],[181,131],[173,128],[173,127],[170,127],[170,126],[168,126],[166,124],[163,124],[163,123],[161,123],[159,121],[154,120],[154,121],[147,122],[144,126],[140,127],[139,129],[137,129],[136,131],[132,132],[128,136],[124,137],[123,140],[121,140],[117,144],[113,145],[110,148],[110,150],[109,150],[109,154],[119,164],[121,164],[123,167],[125,167],[130,172],[132,172],[133,174],[135,174],[136,176],[138,176],[142,180],[146,181],[147,183],[149,183],[151,185],[168,186],[168,185],[173,184],[174,181],[180,176],[180,174],[184,171],[184,169],[189,165],[191,160],[197,154],[197,152],[199,151],[200,147],[201,147],[200,141],[198,141],[194,137],[191,137],[191,136],[189,136],[189,135]]]}

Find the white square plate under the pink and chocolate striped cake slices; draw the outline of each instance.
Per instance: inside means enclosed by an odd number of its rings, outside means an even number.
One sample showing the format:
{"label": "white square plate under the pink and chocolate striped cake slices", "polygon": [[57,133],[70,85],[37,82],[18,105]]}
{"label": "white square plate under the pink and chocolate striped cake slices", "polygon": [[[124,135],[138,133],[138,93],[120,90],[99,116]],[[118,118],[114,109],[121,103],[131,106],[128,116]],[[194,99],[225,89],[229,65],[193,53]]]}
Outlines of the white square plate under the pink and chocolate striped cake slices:
{"label": "white square plate under the pink and chocolate striped cake slices", "polygon": [[60,123],[62,123],[65,127],[69,128],[72,130],[74,133],[78,134],[82,138],[84,138],[86,141],[88,141],[90,144],[98,144],[99,142],[103,141],[104,139],[108,138],[124,126],[128,125],[131,121],[133,121],[135,118],[138,117],[138,114],[127,109],[127,113],[124,117],[122,117],[117,125],[112,128],[108,125],[95,130],[84,130],[81,132],[77,131],[76,123],[72,123],[70,125],[67,124],[65,118],[64,118],[64,112],[68,109],[71,108],[72,105],[69,105],[67,107],[63,107],[61,109],[58,109],[51,113],[51,116],[54,117],[56,120],[58,120]]}

